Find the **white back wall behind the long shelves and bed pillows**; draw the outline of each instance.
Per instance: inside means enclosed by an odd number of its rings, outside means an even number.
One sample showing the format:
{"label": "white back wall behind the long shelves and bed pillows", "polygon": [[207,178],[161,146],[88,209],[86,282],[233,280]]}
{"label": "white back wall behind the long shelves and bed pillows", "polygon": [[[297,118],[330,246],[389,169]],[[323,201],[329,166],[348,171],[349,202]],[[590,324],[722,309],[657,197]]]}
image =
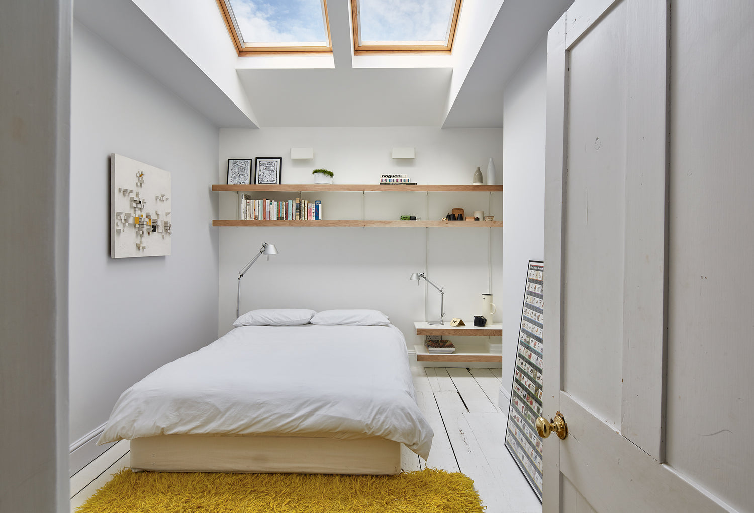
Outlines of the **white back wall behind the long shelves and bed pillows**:
{"label": "white back wall behind the long shelves and bed pillows", "polygon": [[[419,184],[470,184],[474,169],[502,162],[500,129],[428,127],[295,127],[220,130],[219,183],[228,158],[284,157],[283,183],[311,183],[311,170],[324,167],[337,184],[379,182],[383,173],[407,174]],[[290,160],[290,148],[311,146],[312,160]],[[413,146],[414,160],[391,159],[391,148]],[[499,183],[499,182],[498,182]],[[291,199],[293,194],[280,194]],[[481,209],[500,219],[501,193],[305,193],[320,199],[328,219],[397,219],[401,214],[439,219],[454,206]],[[268,199],[277,199],[264,194]],[[429,203],[427,203],[427,201]],[[362,206],[363,202],[363,206]],[[236,218],[235,194],[222,193],[221,218]],[[241,310],[259,307],[372,307],[383,310],[418,344],[413,321],[425,319],[425,283],[411,273],[426,271],[445,288],[446,319],[467,322],[478,313],[481,294],[501,293],[499,228],[224,227],[220,232],[219,334],[235,316],[238,270],[274,243],[279,255],[264,258],[244,276]],[[490,261],[492,264],[490,264]],[[430,287],[429,316],[438,317],[440,294]],[[498,321],[498,317],[492,319]]]}

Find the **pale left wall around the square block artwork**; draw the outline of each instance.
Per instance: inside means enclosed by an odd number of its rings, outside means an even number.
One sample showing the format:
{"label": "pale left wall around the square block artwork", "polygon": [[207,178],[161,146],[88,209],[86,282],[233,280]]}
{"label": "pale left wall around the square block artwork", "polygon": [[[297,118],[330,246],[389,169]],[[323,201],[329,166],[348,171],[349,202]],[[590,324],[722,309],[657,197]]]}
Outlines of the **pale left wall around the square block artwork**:
{"label": "pale left wall around the square block artwork", "polygon": [[[75,442],[107,420],[136,380],[215,338],[218,234],[210,220],[218,202],[209,189],[219,132],[78,22],[72,61],[69,441]],[[171,173],[172,255],[110,258],[111,153]]]}

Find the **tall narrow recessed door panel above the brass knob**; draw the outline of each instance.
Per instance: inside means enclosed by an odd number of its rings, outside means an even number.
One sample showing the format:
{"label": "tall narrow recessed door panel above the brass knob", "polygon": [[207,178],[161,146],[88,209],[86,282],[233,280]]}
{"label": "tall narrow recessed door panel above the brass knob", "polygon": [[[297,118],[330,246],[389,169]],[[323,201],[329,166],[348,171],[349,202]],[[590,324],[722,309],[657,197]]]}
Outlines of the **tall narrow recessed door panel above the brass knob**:
{"label": "tall narrow recessed door panel above the brass knob", "polygon": [[615,426],[621,423],[625,50],[626,2],[571,49],[563,222],[562,386]]}

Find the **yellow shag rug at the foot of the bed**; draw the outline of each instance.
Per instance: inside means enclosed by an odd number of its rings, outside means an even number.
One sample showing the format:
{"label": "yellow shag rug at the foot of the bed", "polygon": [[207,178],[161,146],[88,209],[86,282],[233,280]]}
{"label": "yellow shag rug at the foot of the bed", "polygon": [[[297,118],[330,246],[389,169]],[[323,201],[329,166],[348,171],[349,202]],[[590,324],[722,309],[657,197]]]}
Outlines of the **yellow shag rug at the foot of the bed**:
{"label": "yellow shag rug at the foot of the bed", "polygon": [[474,481],[425,469],[399,475],[214,474],[124,469],[80,513],[473,513]]}

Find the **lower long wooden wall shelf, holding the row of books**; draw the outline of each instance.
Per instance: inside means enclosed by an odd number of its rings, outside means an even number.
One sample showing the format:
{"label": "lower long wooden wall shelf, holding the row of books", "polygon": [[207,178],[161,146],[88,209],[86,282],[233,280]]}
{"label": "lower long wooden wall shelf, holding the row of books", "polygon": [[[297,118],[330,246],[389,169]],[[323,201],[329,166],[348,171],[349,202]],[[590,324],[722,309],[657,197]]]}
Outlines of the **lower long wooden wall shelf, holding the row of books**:
{"label": "lower long wooden wall shelf, holding the row of books", "polygon": [[391,221],[382,219],[323,219],[321,221],[257,221],[213,219],[213,226],[301,226],[301,227],[404,227],[404,228],[501,228],[503,221]]}

